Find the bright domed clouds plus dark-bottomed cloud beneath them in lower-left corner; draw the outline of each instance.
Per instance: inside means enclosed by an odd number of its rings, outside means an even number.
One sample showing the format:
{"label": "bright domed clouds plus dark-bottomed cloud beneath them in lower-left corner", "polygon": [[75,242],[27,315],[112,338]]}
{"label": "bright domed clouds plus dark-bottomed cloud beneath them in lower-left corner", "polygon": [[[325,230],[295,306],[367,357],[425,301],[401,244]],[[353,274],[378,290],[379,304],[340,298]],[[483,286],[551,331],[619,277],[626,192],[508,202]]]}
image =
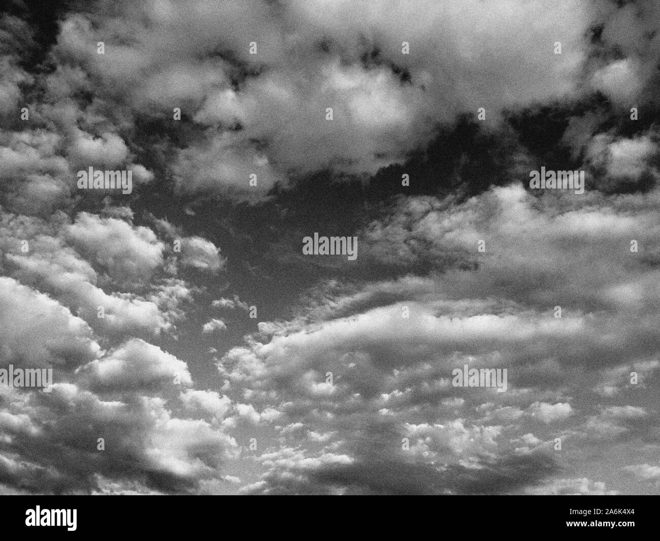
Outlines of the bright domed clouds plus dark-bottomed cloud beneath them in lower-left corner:
{"label": "bright domed clouds plus dark-bottomed cloud beneath them in lower-left corner", "polygon": [[[6,308],[0,366],[52,368],[55,380],[49,392],[0,388],[3,484],[84,493],[99,490],[100,477],[129,476],[142,487],[189,491],[236,456],[236,442],[222,427],[168,407],[168,392],[178,402],[177,377],[191,385],[186,363],[137,339],[104,351],[81,318],[11,278],[0,278],[0,297]],[[180,394],[183,408],[187,393]],[[214,398],[195,396],[202,404]]]}

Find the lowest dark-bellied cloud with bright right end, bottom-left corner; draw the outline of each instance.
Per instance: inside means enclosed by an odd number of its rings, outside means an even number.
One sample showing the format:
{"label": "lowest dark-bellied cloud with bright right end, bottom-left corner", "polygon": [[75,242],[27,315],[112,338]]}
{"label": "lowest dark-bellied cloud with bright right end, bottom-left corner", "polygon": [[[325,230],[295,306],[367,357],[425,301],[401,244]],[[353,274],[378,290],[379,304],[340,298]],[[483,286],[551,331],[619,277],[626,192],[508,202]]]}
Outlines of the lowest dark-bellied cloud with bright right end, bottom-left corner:
{"label": "lowest dark-bellied cloud with bright right end, bottom-left corner", "polygon": [[31,492],[88,493],[98,489],[99,476],[125,478],[127,463],[131,476],[152,489],[192,491],[236,454],[232,438],[206,421],[173,417],[160,398],[102,400],[75,384],[54,384],[51,393],[27,402],[3,394],[0,422],[9,443],[0,479]]}

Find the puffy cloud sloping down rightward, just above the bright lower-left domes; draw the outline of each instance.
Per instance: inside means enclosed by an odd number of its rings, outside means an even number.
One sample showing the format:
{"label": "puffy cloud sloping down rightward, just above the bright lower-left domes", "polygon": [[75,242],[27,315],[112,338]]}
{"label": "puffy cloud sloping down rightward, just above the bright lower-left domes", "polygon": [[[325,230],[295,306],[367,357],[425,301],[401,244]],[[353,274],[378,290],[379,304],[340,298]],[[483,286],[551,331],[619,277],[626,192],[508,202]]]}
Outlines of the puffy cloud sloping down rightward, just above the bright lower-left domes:
{"label": "puffy cloud sloping down rightward, just above the bright lower-left domes", "polygon": [[[180,304],[191,299],[185,282],[155,279],[164,261],[150,229],[86,213],[71,224],[63,213],[50,221],[7,214],[0,229],[7,272],[47,292],[95,330],[172,331],[182,316]],[[127,289],[152,292],[142,296]]]}

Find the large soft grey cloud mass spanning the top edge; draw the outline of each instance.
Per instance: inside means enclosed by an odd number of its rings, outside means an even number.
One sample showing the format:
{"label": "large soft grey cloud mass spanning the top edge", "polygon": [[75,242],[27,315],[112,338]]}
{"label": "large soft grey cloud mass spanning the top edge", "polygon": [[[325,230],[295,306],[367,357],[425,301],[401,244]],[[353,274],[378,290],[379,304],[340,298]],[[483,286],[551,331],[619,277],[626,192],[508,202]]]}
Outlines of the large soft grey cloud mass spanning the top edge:
{"label": "large soft grey cloud mass spanning the top edge", "polygon": [[[97,108],[119,102],[128,116],[168,124],[180,108],[199,127],[174,149],[180,188],[239,193],[251,174],[258,192],[325,168],[374,173],[463,112],[484,107],[490,122],[506,108],[579,96],[585,34],[599,15],[574,0],[97,7],[63,21],[53,55],[79,71],[55,75],[55,86],[73,93],[94,81]],[[119,151],[110,137],[75,149]]]}

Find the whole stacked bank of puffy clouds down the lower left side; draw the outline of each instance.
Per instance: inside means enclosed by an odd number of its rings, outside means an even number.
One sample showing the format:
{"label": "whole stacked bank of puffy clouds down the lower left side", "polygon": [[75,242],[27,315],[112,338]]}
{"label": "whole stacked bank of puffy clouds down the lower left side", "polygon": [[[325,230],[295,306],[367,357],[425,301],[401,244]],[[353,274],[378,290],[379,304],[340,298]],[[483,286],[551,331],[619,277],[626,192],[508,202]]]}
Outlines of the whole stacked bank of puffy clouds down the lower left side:
{"label": "whole stacked bank of puffy clouds down the lower left side", "polygon": [[48,392],[0,388],[7,491],[197,491],[239,452],[219,424],[228,408],[200,417],[215,395],[191,401],[187,363],[143,340],[182,320],[194,288],[172,274],[186,264],[170,268],[154,231],[109,210],[0,221],[0,367],[53,369],[54,380]]}

